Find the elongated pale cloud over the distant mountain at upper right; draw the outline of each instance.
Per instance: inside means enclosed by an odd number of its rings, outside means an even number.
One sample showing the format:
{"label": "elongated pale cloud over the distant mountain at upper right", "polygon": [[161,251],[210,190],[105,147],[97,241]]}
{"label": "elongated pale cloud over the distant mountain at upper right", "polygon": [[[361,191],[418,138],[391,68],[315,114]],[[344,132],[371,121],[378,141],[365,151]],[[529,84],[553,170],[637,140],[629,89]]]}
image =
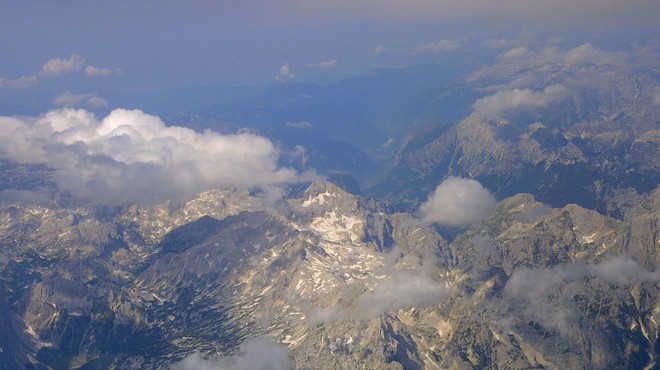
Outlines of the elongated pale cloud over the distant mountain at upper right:
{"label": "elongated pale cloud over the distant mountain at upper right", "polygon": [[566,99],[569,95],[570,91],[561,84],[548,86],[541,91],[531,89],[502,90],[493,95],[477,99],[472,108],[475,112],[488,118],[497,118],[511,110],[545,108],[550,104]]}

